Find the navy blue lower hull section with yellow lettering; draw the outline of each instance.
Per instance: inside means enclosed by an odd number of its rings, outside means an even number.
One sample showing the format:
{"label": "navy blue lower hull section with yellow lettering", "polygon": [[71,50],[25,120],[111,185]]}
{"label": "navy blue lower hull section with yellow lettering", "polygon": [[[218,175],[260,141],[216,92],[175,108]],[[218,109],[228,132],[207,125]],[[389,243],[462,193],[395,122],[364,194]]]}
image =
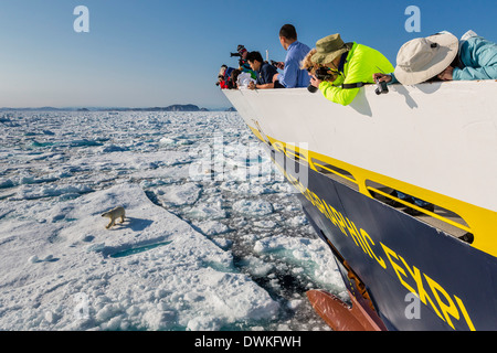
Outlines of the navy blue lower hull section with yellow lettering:
{"label": "navy blue lower hull section with yellow lettering", "polygon": [[[275,160],[295,163],[271,150]],[[494,256],[305,163],[299,168],[308,169],[306,186],[294,168],[282,170],[330,245],[349,292],[364,306],[369,301],[388,330],[497,330]],[[367,299],[350,270],[366,286]]]}

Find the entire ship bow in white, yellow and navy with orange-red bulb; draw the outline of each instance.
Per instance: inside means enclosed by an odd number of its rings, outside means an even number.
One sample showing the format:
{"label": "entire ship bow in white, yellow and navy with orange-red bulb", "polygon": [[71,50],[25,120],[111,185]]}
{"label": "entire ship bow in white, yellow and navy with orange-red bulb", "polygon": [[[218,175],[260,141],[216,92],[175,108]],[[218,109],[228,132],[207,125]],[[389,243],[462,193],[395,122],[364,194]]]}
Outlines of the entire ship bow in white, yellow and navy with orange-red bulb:
{"label": "entire ship bow in white, yellow and navy with orange-red bulb", "polygon": [[[348,106],[305,88],[223,93],[335,254],[352,308],[307,293],[328,324],[496,330],[497,83],[389,90],[362,87]],[[304,173],[285,168],[296,161]]]}

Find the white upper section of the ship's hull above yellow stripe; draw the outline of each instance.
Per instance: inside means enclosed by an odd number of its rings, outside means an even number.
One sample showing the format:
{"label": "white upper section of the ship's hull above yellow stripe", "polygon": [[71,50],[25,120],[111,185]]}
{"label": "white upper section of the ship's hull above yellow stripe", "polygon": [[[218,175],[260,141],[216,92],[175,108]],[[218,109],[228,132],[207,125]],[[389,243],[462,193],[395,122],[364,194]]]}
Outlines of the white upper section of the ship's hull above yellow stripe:
{"label": "white upper section of the ship's hull above yellow stripe", "polygon": [[223,93],[271,138],[496,212],[497,83],[389,88],[346,107],[306,88]]}

